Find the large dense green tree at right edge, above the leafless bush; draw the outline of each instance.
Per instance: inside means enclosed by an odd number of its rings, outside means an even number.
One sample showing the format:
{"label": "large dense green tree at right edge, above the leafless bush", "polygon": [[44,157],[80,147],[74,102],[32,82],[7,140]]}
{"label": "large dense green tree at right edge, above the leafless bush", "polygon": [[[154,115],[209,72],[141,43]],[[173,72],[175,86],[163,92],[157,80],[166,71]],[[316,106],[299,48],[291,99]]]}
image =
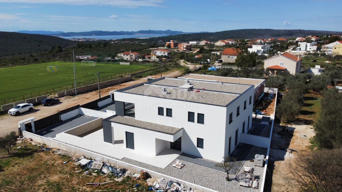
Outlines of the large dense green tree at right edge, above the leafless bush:
{"label": "large dense green tree at right edge, above the leafless bush", "polygon": [[322,111],[314,124],[315,143],[320,148],[332,149],[341,146],[342,141],[342,94],[336,89],[321,93]]}

